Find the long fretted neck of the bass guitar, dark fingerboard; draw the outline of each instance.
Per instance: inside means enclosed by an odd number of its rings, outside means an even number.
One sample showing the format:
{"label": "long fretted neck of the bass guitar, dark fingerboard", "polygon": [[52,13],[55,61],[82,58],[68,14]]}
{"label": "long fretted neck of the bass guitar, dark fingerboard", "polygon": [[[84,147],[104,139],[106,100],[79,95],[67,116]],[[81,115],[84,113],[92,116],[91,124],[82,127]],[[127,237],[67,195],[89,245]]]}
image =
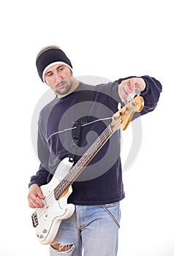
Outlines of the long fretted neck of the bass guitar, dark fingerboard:
{"label": "long fretted neck of the bass guitar, dark fingerboard", "polygon": [[89,162],[95,157],[97,152],[104,146],[107,140],[113,135],[112,124],[109,124],[108,127],[102,132],[97,140],[88,148],[83,157],[81,157],[77,163],[69,170],[67,176],[58,184],[56,189],[54,189],[54,195],[56,200],[66,191],[66,189],[77,179],[77,177],[82,173],[84,168],[88,165]]}

